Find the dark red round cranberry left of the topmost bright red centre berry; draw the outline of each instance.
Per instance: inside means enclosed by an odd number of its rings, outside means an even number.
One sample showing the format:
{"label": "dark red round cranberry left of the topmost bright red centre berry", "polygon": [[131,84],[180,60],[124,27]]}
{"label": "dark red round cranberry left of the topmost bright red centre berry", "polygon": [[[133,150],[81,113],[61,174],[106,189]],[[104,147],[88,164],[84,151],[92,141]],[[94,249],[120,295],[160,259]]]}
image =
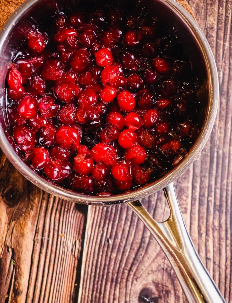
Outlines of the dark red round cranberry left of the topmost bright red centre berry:
{"label": "dark red round cranberry left of the topmost bright red centre berry", "polygon": [[71,58],[70,65],[75,72],[87,72],[90,67],[90,53],[85,49],[79,49]]}

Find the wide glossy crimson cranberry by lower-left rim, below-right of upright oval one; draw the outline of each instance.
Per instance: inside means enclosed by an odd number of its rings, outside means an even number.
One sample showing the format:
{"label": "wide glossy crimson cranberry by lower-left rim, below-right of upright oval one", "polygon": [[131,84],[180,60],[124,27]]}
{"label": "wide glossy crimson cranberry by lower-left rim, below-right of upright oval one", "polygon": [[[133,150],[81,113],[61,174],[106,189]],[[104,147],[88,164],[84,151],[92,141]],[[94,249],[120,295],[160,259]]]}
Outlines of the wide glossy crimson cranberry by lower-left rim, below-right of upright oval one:
{"label": "wide glossy crimson cranberry by lower-left rim, below-right of upright oval one", "polygon": [[64,180],[70,175],[71,170],[70,163],[66,160],[49,159],[44,165],[44,174],[54,181]]}

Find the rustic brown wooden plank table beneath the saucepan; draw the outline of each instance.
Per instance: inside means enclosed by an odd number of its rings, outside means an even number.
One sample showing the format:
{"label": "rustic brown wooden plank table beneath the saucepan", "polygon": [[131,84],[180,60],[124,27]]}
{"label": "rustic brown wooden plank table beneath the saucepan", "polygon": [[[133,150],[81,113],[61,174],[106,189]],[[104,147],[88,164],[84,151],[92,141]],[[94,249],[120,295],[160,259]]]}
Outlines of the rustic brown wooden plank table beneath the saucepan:
{"label": "rustic brown wooden plank table beneath the saucepan", "polygon": [[[1,0],[1,23],[22,1]],[[207,145],[175,182],[191,238],[232,302],[232,0],[190,0],[214,52],[219,108]],[[81,206],[42,192],[0,159],[0,303],[185,302],[156,241],[127,205]],[[143,201],[162,220],[162,192]]]}

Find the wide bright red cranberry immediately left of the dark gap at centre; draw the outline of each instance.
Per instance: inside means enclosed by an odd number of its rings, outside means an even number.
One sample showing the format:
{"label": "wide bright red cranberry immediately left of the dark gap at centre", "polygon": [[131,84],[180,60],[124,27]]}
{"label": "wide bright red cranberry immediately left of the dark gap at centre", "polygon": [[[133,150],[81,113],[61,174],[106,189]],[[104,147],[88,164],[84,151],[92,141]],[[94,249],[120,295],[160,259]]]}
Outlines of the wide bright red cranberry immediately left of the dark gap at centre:
{"label": "wide bright red cranberry immediately left of the dark gap at centre", "polygon": [[73,126],[61,126],[56,134],[56,143],[61,146],[71,146],[72,144],[75,147],[80,145],[80,133]]}

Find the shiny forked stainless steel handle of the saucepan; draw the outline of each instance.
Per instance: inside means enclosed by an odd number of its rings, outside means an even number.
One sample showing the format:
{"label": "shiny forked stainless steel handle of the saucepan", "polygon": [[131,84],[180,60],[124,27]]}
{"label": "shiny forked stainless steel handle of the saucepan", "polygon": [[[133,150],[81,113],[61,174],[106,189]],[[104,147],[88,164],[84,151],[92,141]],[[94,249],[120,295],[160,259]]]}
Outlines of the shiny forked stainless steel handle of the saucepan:
{"label": "shiny forked stainless steel handle of the saucepan", "polygon": [[164,222],[155,221],[139,201],[129,202],[128,205],[158,241],[188,302],[226,303],[193,246],[181,215],[174,184],[165,187],[164,192],[171,212]]}

